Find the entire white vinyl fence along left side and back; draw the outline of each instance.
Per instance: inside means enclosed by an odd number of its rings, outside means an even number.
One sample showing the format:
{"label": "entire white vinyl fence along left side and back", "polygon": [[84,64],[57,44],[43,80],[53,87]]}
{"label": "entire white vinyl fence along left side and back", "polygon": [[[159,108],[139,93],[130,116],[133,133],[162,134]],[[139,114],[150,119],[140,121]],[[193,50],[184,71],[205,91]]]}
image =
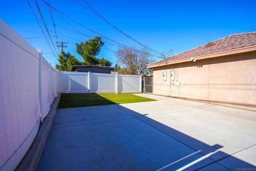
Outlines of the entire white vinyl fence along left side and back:
{"label": "entire white vinyl fence along left side and back", "polygon": [[58,93],[137,93],[141,76],[58,72],[0,19],[0,171],[14,170]]}

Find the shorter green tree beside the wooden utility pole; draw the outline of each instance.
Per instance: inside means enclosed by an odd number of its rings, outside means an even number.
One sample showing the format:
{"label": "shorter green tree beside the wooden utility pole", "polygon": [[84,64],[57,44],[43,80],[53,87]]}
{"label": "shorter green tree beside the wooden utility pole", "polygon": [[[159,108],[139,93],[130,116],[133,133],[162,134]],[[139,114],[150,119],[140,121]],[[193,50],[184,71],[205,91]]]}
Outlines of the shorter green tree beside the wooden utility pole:
{"label": "shorter green tree beside the wooden utility pole", "polygon": [[81,65],[82,63],[70,52],[65,53],[61,50],[58,61],[60,65],[56,64],[55,68],[60,71],[70,71],[72,65]]}

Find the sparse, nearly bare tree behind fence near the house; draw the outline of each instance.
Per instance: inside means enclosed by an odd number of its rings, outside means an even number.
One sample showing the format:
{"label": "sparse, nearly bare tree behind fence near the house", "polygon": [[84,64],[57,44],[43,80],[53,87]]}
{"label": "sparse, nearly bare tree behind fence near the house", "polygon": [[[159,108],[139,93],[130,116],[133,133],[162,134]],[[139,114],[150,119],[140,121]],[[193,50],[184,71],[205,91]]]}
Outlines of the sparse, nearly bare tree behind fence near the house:
{"label": "sparse, nearly bare tree behind fence near the house", "polygon": [[119,74],[142,74],[146,76],[151,72],[150,69],[146,68],[147,64],[153,62],[150,51],[147,48],[138,49],[136,47],[120,46],[115,53],[118,58],[118,63],[115,67]]}

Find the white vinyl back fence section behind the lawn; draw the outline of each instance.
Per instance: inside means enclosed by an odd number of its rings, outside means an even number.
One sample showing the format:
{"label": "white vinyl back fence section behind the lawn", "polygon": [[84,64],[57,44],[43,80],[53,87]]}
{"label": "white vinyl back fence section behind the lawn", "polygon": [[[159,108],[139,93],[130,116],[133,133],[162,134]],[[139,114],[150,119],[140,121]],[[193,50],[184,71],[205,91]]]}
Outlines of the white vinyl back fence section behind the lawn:
{"label": "white vinyl back fence section behind the lawn", "polygon": [[141,93],[138,75],[59,72],[60,93]]}

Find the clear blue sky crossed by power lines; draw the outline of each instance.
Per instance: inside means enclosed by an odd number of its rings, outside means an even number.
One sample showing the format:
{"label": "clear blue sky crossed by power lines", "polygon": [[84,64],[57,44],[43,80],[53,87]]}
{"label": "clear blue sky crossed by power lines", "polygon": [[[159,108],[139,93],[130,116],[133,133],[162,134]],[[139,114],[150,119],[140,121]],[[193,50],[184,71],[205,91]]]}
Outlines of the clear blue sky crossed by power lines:
{"label": "clear blue sky crossed by power lines", "polygon": [[[53,8],[50,10],[42,0],[1,0],[0,18],[26,38],[34,48],[42,49],[43,56],[52,63],[52,66],[58,64],[57,58],[60,53],[60,48],[55,42],[68,42],[64,51],[69,51],[82,60],[82,57],[76,53],[75,43],[99,34],[104,36],[102,40],[105,44],[98,58],[104,57],[114,66],[117,60],[114,52],[118,48],[118,43],[138,48],[143,44],[155,50],[159,56],[163,52],[168,55],[170,49],[173,49],[175,55],[230,34],[256,31],[256,0],[44,1],[48,4],[50,2]],[[42,22],[36,2],[46,26]],[[93,14],[92,9],[85,2],[140,44]],[[48,37],[46,27],[52,40]],[[160,58],[155,57],[155,60]]]}

